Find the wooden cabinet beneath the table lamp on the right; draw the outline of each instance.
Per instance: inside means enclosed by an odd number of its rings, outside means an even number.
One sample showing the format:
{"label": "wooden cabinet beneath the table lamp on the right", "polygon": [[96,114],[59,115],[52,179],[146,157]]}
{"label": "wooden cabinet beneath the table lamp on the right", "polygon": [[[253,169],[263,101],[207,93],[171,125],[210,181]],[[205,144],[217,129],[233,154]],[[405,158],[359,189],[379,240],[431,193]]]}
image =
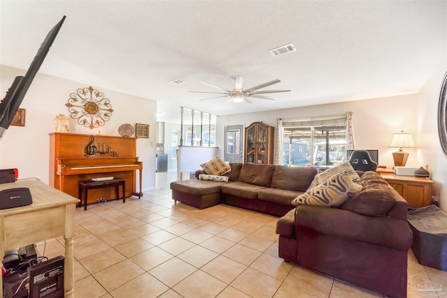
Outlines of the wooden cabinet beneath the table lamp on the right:
{"label": "wooden cabinet beneath the table lamp on the right", "polygon": [[381,173],[381,177],[408,202],[409,208],[420,208],[432,204],[432,185],[429,178]]}

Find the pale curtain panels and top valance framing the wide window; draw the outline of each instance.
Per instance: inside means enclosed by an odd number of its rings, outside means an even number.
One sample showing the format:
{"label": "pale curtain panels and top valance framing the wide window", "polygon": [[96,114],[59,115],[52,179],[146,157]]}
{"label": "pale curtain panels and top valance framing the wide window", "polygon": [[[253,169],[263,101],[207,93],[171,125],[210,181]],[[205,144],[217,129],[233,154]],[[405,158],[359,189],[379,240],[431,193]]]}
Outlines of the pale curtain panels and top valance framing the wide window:
{"label": "pale curtain panels and top valance framing the wide window", "polygon": [[346,124],[346,149],[356,149],[354,140],[354,128],[352,124],[353,112],[346,112],[346,114],[334,114],[317,117],[306,117],[296,119],[277,119],[277,131],[275,133],[275,151],[274,163],[276,165],[282,164],[284,131],[283,128],[297,127],[297,126],[324,126]]}

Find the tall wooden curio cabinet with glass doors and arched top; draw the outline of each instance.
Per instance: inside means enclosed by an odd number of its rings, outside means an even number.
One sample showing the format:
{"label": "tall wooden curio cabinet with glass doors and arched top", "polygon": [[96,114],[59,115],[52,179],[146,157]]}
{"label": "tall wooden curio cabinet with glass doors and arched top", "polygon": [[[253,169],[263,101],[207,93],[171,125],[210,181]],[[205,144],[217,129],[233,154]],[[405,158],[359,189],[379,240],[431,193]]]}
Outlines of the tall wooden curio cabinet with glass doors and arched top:
{"label": "tall wooden curio cabinet with glass doors and arched top", "polygon": [[245,128],[245,163],[273,164],[274,127],[254,122]]}

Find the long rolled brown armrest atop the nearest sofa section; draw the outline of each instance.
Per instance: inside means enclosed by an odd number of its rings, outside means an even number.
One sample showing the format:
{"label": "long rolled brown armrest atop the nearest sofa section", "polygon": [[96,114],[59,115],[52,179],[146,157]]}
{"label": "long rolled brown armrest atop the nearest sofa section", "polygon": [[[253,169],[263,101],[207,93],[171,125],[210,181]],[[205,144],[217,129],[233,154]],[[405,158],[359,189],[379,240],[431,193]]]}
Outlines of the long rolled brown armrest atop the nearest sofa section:
{"label": "long rolled brown armrest atop the nearest sofa section", "polygon": [[314,232],[408,251],[413,238],[406,221],[374,217],[320,206],[300,205],[295,212],[295,233]]}

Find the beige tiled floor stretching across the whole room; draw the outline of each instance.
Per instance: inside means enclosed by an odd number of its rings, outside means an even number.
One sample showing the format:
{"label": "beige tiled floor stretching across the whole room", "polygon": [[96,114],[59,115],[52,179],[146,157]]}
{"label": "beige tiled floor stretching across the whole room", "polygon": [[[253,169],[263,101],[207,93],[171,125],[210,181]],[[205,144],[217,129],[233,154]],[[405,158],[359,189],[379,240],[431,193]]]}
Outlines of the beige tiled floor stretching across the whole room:
{"label": "beige tiled floor stretching across the whole room", "polygon": [[[227,205],[174,204],[173,173],[156,190],[76,210],[75,297],[381,297],[277,255],[277,218]],[[38,244],[52,258],[63,239]],[[365,272],[367,274],[367,272]],[[447,272],[418,264],[409,252],[408,297],[447,297]],[[439,292],[423,292],[431,281]]]}

